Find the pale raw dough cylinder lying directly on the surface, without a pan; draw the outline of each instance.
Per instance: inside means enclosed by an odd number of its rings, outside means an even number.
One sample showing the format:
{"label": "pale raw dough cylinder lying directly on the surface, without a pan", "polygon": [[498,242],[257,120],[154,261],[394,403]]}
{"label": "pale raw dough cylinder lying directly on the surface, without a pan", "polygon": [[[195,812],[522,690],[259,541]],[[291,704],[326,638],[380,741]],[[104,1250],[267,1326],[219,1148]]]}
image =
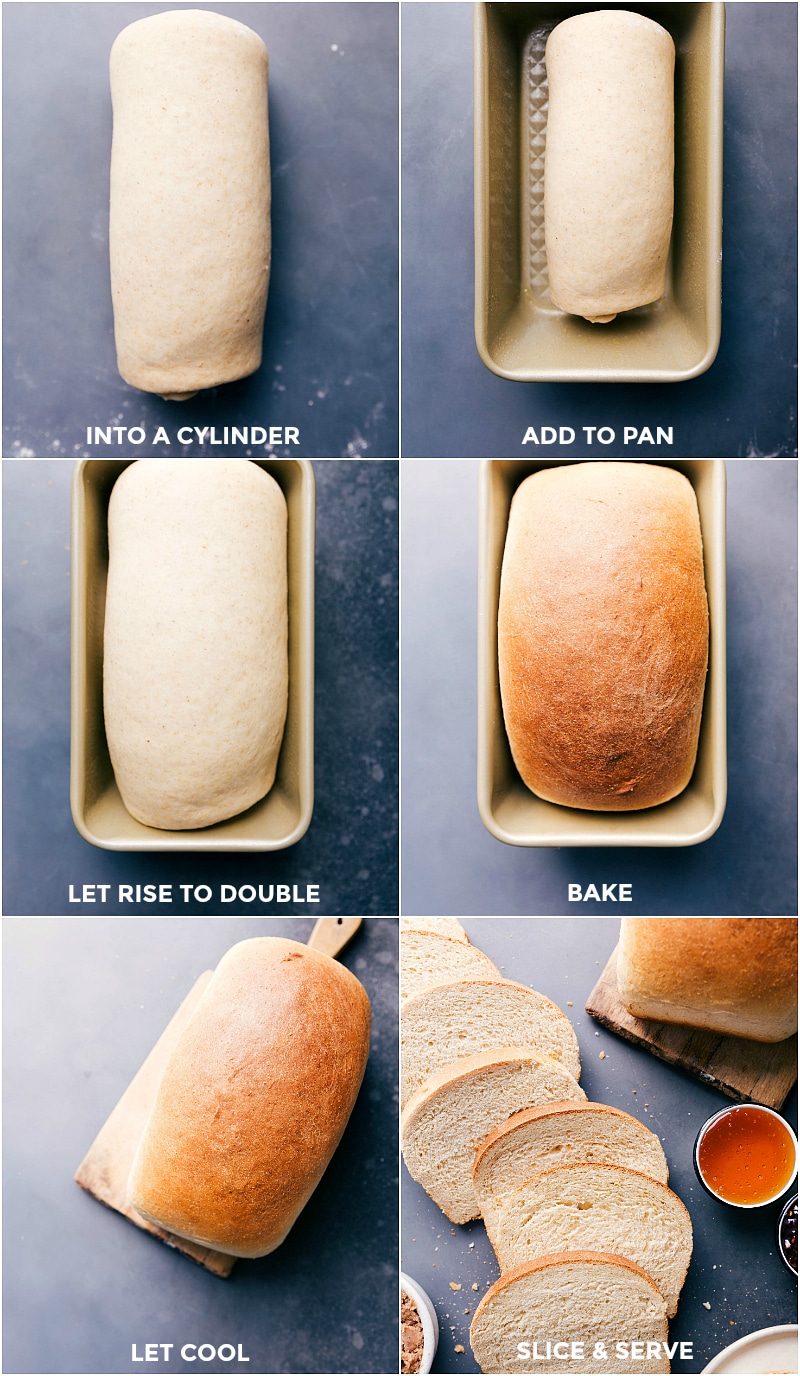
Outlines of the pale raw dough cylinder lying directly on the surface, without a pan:
{"label": "pale raw dough cylinder lying directly on the surface, without a pan", "polygon": [[267,50],[235,19],[171,10],[123,29],[110,74],[117,366],[185,400],[262,362]]}

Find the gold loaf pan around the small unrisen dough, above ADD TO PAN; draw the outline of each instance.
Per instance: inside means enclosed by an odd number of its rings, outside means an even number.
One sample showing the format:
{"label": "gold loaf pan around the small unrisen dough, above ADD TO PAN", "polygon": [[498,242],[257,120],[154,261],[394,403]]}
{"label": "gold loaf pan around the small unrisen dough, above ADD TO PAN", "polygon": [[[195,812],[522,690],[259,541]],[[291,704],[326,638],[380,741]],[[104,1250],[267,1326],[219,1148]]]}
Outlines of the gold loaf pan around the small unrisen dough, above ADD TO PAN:
{"label": "gold loaf pan around the small unrisen dough, above ADD TO PAN", "polygon": [[544,255],[544,44],[599,6],[475,6],[475,337],[519,383],[677,383],[720,337],[724,4],[625,6],[675,41],[675,220],[666,293],[591,325],[556,310]]}

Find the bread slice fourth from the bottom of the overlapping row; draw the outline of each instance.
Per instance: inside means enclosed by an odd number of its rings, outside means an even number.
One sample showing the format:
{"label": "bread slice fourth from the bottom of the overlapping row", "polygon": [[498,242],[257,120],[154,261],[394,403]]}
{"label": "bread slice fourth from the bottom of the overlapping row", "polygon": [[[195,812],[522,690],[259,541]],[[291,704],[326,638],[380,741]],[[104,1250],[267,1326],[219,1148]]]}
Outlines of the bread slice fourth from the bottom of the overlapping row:
{"label": "bread slice fourth from the bottom of the overlapping row", "polygon": [[472,1187],[475,1148],[511,1113],[567,1098],[585,1098],[577,1080],[558,1061],[526,1047],[498,1047],[445,1065],[402,1115],[409,1172],[453,1223],[468,1223],[481,1215]]}

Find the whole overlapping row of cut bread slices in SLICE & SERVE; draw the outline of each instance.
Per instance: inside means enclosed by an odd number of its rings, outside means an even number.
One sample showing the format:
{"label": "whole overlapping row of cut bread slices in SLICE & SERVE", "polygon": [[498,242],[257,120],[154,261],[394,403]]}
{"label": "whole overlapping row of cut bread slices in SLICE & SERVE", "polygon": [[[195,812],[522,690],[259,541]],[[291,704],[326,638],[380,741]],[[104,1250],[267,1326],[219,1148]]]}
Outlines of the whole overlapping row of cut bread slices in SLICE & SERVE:
{"label": "whole overlapping row of cut bread slices in SLICE & SERVE", "polygon": [[[453,1223],[483,1218],[500,1280],[475,1313],[483,1372],[631,1372],[618,1343],[665,1344],[691,1258],[661,1142],[589,1104],[567,1015],[505,980],[456,918],[401,919],[401,1108],[410,1175]],[[536,1364],[519,1343],[540,1343]],[[664,1347],[647,1370],[668,1372]]]}

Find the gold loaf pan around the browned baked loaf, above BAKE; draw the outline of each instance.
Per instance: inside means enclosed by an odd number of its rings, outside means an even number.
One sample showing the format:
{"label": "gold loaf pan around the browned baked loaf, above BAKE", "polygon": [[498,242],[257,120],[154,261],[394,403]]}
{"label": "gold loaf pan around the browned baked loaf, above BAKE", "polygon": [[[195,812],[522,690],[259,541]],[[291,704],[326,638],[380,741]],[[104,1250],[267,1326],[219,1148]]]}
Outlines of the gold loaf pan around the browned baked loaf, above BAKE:
{"label": "gold loaf pan around the browned baked loaf, above BAKE", "polygon": [[[717,830],[726,806],[726,465],[720,458],[666,461],[697,495],[709,608],[709,667],[694,773],[677,798],[640,812],[562,808],[527,788],[511,757],[497,667],[500,570],[514,493],[529,473],[562,460],[483,460],[478,579],[478,808],[483,826],[512,846],[695,846]],[[628,460],[644,462],[644,460]]]}

